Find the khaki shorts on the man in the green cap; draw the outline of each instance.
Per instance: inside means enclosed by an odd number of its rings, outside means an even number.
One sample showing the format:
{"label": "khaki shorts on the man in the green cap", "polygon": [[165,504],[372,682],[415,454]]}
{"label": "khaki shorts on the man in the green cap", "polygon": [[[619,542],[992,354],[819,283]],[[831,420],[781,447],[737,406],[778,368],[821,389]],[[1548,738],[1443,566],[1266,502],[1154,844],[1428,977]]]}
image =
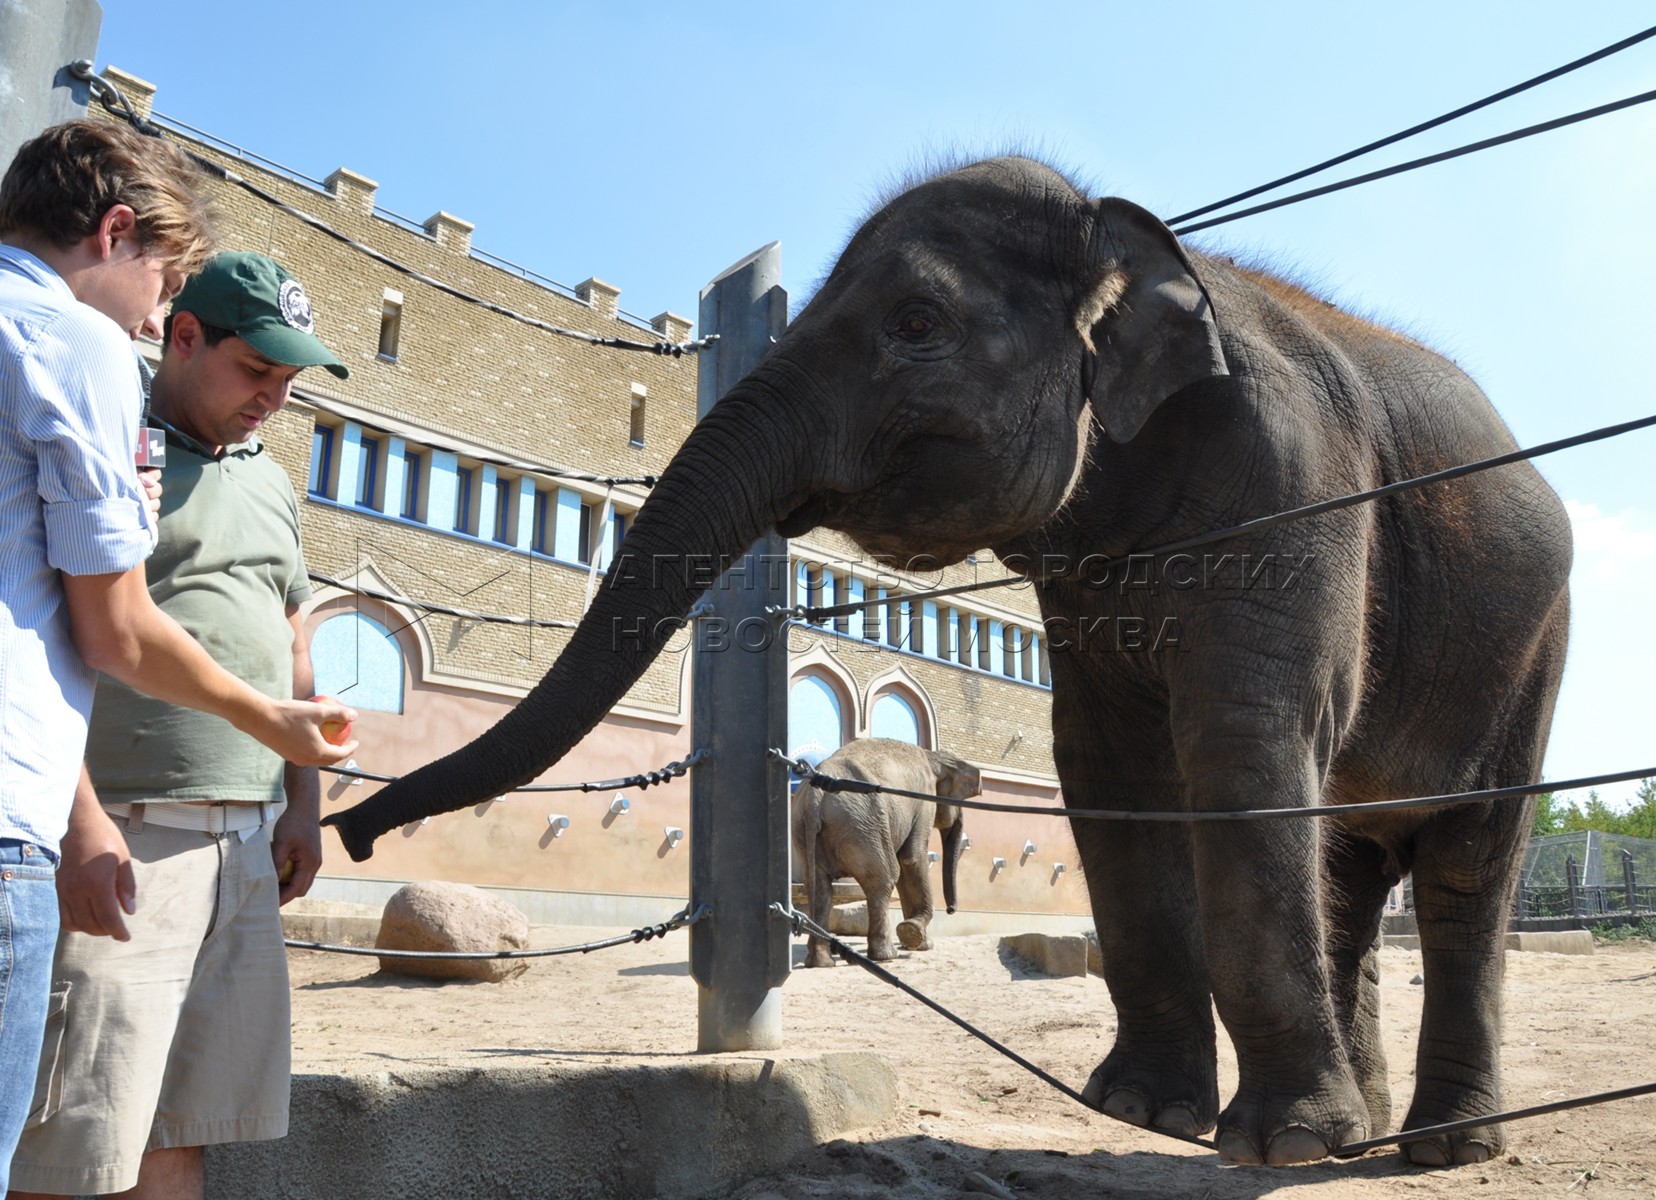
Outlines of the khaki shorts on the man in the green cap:
{"label": "khaki shorts on the man in the green cap", "polygon": [[270,828],[116,824],[137,877],[132,940],[58,938],[35,1106],[12,1160],[20,1192],[121,1192],[146,1150],[288,1132]]}

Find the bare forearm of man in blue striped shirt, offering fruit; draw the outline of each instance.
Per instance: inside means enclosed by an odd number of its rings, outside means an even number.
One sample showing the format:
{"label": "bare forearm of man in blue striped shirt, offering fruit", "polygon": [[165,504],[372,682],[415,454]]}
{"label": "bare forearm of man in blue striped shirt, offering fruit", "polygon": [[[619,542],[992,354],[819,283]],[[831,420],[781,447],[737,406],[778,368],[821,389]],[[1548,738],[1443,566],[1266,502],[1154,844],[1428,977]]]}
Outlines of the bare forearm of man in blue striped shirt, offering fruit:
{"label": "bare forearm of man in blue striped shirt, offering fruit", "polygon": [[263,742],[285,760],[338,763],[356,742],[330,745],[325,720],[356,720],[341,703],[272,700],[212,660],[149,598],[142,564],[119,574],[63,573],[70,629],[81,657],[111,679],[167,703],[200,708]]}

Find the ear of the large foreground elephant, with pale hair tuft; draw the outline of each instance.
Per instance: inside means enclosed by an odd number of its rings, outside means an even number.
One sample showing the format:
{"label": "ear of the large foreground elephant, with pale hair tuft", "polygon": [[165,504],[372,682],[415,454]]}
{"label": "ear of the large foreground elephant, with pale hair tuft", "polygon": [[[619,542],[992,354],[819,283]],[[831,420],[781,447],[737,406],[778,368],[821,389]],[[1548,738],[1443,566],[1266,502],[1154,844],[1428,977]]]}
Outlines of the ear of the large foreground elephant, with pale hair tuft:
{"label": "ear of the large foreground elephant, with pale hair tuft", "polygon": [[1093,412],[1133,440],[1174,392],[1225,376],[1207,290],[1172,230],[1128,200],[1093,204],[1093,286],[1075,314]]}

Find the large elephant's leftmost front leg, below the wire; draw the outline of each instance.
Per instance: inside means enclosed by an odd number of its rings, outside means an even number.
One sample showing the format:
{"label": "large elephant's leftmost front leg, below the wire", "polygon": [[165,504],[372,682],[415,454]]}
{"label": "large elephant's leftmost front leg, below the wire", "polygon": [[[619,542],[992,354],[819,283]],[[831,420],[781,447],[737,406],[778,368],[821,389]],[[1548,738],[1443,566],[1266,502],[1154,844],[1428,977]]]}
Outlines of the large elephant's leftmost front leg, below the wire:
{"label": "large elephant's leftmost front leg, below the wire", "polygon": [[[1119,794],[1065,780],[1078,808],[1121,808]],[[1096,776],[1093,776],[1096,778]],[[1136,791],[1144,806],[1177,794]],[[1116,796],[1111,803],[1108,796]],[[1196,1135],[1219,1116],[1207,963],[1182,826],[1073,821],[1086,876],[1116,1039],[1086,1082],[1086,1101],[1134,1126]]]}

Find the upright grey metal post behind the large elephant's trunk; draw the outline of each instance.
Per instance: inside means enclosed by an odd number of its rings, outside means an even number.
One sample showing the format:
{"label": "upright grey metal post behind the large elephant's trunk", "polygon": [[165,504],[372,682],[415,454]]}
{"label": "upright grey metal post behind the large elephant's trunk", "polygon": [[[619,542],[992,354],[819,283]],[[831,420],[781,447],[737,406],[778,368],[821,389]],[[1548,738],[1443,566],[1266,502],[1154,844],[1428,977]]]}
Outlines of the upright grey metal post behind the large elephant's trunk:
{"label": "upright grey metal post behind the large elephant's trunk", "polygon": [[[739,262],[702,290],[697,415],[770,351],[788,321],[782,243]],[[767,750],[788,740],[788,647],[767,606],[787,604],[788,543],[768,533],[707,594],[696,622],[691,730],[712,751],[691,775],[691,927],[697,1049],[778,1049],[790,937],[772,904],[788,904],[788,775]]]}

